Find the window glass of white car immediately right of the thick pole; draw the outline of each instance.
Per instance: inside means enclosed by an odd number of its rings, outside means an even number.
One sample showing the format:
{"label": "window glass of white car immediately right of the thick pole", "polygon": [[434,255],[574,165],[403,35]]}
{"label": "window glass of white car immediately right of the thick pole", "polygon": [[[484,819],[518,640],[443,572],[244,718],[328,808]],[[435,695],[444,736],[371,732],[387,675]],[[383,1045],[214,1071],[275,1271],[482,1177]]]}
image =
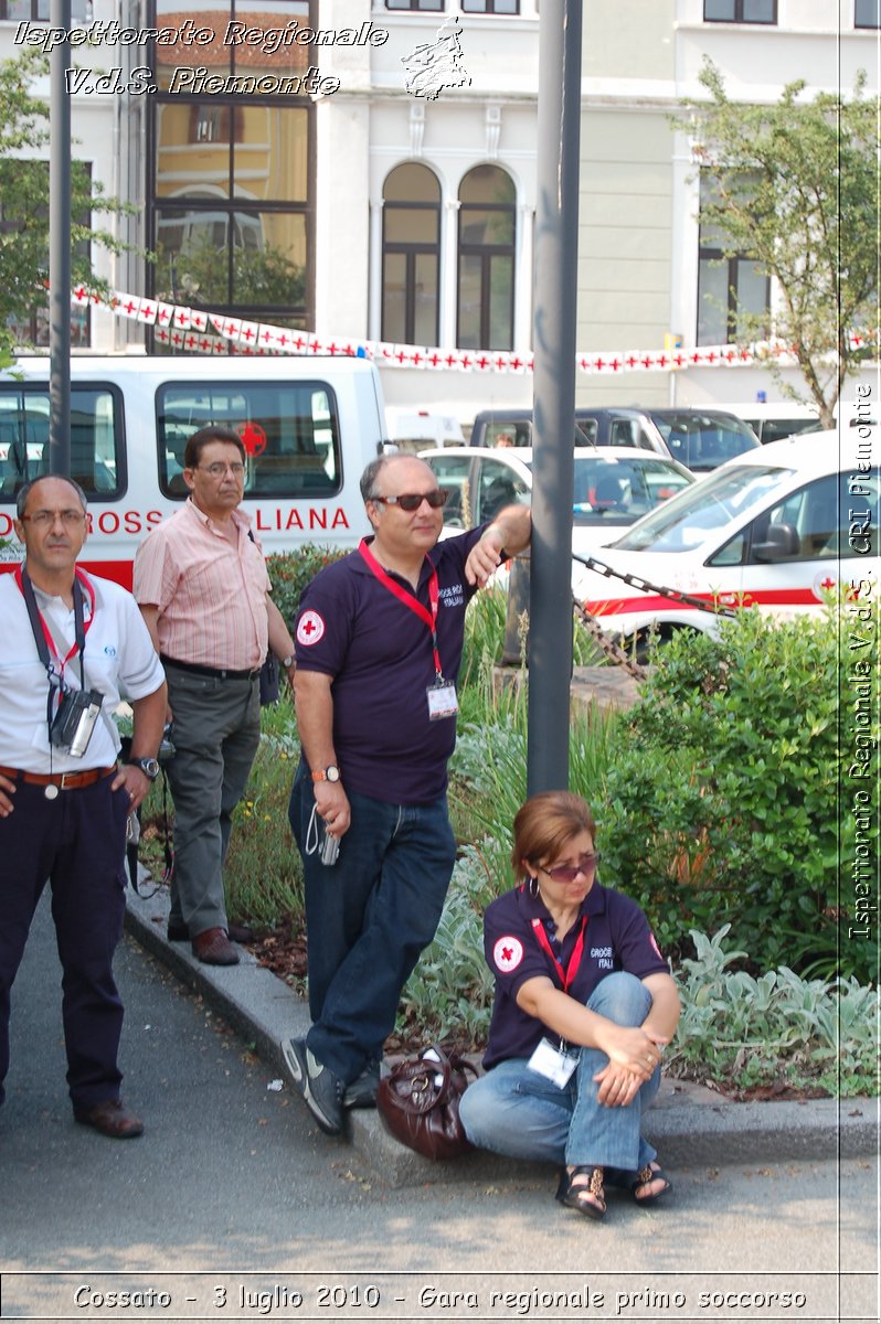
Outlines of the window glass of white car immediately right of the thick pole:
{"label": "window glass of white car immediately right of the thick pole", "polygon": [[689,475],[665,459],[576,457],[574,523],[632,524],[689,486]]}

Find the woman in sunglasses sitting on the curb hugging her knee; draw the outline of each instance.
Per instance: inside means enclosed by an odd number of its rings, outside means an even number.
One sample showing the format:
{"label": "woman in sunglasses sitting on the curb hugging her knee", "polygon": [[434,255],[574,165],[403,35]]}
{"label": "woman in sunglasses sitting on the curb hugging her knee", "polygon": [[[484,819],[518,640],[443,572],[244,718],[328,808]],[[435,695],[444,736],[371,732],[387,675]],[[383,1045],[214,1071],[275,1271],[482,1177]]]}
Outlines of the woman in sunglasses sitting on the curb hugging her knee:
{"label": "woman in sunglasses sitting on the curb hugging her knee", "polygon": [[604,1181],[640,1205],[672,1189],[641,1119],[680,1017],[645,915],[596,882],[595,835],[590,806],[566,790],[518,812],[523,882],[484,922],[495,976],[486,1074],[461,1100],[473,1144],[560,1164],[556,1198],[588,1218],[605,1213]]}

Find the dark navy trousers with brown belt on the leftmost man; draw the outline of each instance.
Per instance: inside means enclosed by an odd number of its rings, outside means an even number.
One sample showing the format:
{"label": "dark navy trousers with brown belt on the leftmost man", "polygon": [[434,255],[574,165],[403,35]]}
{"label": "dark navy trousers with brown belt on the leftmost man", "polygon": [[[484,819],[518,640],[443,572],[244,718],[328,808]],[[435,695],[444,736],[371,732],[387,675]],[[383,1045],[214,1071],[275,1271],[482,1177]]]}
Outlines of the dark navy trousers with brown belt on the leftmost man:
{"label": "dark navy trousers with brown belt on the leftmost man", "polygon": [[9,1070],[11,990],[42,888],[62,967],[68,1086],[74,1107],[119,1094],[122,1001],[113,956],[122,937],[129,796],[103,777],[46,800],[19,781],[15,809],[0,820],[0,1103]]}

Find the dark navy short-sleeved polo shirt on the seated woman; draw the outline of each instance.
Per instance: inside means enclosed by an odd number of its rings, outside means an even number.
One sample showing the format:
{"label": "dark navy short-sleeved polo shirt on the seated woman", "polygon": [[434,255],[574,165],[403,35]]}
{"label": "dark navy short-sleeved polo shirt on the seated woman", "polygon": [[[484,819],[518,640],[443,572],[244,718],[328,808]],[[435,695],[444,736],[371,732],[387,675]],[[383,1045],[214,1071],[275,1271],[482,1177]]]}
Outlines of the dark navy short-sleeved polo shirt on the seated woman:
{"label": "dark navy short-sleeved polo shirt on the seated woman", "polygon": [[[582,903],[582,915],[587,916],[584,951],[567,989],[578,1002],[587,1002],[596,985],[613,970],[627,970],[637,980],[670,973],[645,915],[629,896],[594,883]],[[559,1042],[552,1030],[517,1005],[517,994],[527,980],[547,976],[555,988],[563,986],[554,963],[539,944],[533,919],[544,925],[554,955],[564,970],[582,928],[580,920],[576,920],[563,941],[556,943],[554,920],[544,903],[541,896],[530,896],[525,887],[515,887],[488,906],[484,951],[495,976],[495,1002],[484,1057],[488,1068],[507,1058],[531,1057],[544,1035],[552,1043]]]}

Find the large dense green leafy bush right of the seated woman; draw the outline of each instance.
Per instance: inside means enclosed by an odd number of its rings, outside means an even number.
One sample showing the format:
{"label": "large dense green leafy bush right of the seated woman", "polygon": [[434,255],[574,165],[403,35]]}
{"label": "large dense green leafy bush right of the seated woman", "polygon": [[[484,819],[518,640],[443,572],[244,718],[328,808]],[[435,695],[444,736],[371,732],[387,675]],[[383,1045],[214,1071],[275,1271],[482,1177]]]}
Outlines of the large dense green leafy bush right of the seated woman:
{"label": "large dense green leafy bush right of the seated woman", "polygon": [[[851,665],[837,617],[741,612],[719,639],[681,632],[653,662],[608,771],[605,879],[640,902],[668,951],[730,923],[754,969],[869,982],[874,944],[849,935],[839,878],[855,824],[836,820]],[[870,837],[877,850],[877,822]]]}

